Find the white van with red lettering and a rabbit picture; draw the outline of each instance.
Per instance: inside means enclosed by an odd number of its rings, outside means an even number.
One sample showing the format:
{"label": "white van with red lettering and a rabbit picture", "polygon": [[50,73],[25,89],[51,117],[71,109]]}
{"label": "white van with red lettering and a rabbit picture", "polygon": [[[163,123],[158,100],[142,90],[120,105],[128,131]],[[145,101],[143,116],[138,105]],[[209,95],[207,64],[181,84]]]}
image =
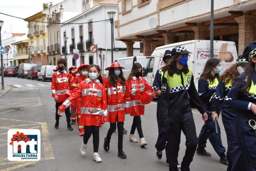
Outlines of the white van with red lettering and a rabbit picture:
{"label": "white van with red lettering and a rabbit picture", "polygon": [[[162,68],[165,63],[163,62],[163,55],[166,50],[171,50],[176,46],[185,46],[186,49],[191,52],[189,54],[188,66],[192,69],[194,75],[194,82],[196,88],[198,88],[198,80],[201,73],[204,70],[204,65],[210,58],[210,41],[208,40],[192,40],[179,43],[172,43],[164,46],[159,46],[154,49],[150,60],[148,61],[143,76],[147,80],[149,85],[153,84],[154,75],[157,70]],[[237,52],[236,44],[231,41],[214,41],[214,58],[221,60],[222,72],[236,63]]]}

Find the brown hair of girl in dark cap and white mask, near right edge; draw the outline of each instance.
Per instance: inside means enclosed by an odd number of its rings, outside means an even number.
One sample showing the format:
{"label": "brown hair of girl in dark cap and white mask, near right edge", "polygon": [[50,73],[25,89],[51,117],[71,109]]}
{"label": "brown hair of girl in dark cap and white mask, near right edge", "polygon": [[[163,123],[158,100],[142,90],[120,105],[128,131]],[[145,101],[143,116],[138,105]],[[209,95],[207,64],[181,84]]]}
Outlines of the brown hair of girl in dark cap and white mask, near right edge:
{"label": "brown hair of girl in dark cap and white mask, near right edge", "polygon": [[225,84],[227,85],[230,81],[232,82],[232,84],[235,82],[236,80],[236,77],[239,74],[239,72],[237,71],[237,67],[240,66],[241,64],[239,63],[236,63],[236,64],[233,64],[231,65],[231,67],[229,67],[227,70],[225,70],[223,72],[223,74],[221,75],[221,79],[223,81],[225,81]]}

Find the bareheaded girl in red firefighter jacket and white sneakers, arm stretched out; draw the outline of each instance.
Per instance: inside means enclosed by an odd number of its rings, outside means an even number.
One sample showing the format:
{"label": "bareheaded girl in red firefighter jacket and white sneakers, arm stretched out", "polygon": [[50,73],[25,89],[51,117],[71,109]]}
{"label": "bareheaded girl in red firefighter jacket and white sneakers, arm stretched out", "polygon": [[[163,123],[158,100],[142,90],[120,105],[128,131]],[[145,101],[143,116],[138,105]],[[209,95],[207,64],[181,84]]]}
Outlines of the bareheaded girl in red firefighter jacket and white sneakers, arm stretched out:
{"label": "bareheaded girl in red firefighter jacket and white sneakers, arm stretched out", "polygon": [[86,154],[87,142],[93,134],[93,160],[102,162],[99,157],[99,127],[102,126],[102,121],[108,121],[108,106],[105,87],[102,84],[100,69],[97,65],[89,66],[89,78],[82,81],[76,89],[73,90],[71,96],[64,101],[59,107],[58,113],[76,103],[76,100],[81,97],[81,118],[80,123],[84,125],[84,139],[80,148],[81,154]]}

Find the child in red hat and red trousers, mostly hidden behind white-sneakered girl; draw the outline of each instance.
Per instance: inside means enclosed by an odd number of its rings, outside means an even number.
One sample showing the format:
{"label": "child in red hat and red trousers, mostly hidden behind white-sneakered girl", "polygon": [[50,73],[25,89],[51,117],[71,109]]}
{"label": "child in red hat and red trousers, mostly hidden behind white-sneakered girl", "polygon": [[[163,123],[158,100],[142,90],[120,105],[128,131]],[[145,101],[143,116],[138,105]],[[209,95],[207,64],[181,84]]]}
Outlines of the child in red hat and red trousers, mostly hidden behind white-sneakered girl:
{"label": "child in red hat and red trousers, mostly hidden behind white-sneakered girl", "polygon": [[[81,64],[80,67],[78,67],[77,72],[81,73],[80,75],[76,76],[73,80],[73,84],[71,86],[72,90],[74,90],[76,87],[79,86],[79,84],[86,80],[88,78],[88,67],[89,65]],[[72,104],[71,104],[72,106]],[[79,130],[79,136],[84,135],[84,126],[81,125],[80,118],[81,118],[81,97],[79,97],[76,100],[76,116],[77,123],[78,123],[78,130]]]}

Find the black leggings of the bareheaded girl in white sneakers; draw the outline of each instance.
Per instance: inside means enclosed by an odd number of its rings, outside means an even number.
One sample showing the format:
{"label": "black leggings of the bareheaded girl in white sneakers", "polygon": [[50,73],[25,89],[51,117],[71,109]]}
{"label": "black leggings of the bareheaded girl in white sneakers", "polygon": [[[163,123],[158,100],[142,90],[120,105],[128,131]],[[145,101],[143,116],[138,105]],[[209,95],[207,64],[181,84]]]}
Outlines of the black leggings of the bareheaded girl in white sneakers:
{"label": "black leggings of the bareheaded girl in white sneakers", "polygon": [[93,151],[99,151],[99,127],[98,126],[84,126],[84,144],[87,144],[90,136],[93,133]]}

